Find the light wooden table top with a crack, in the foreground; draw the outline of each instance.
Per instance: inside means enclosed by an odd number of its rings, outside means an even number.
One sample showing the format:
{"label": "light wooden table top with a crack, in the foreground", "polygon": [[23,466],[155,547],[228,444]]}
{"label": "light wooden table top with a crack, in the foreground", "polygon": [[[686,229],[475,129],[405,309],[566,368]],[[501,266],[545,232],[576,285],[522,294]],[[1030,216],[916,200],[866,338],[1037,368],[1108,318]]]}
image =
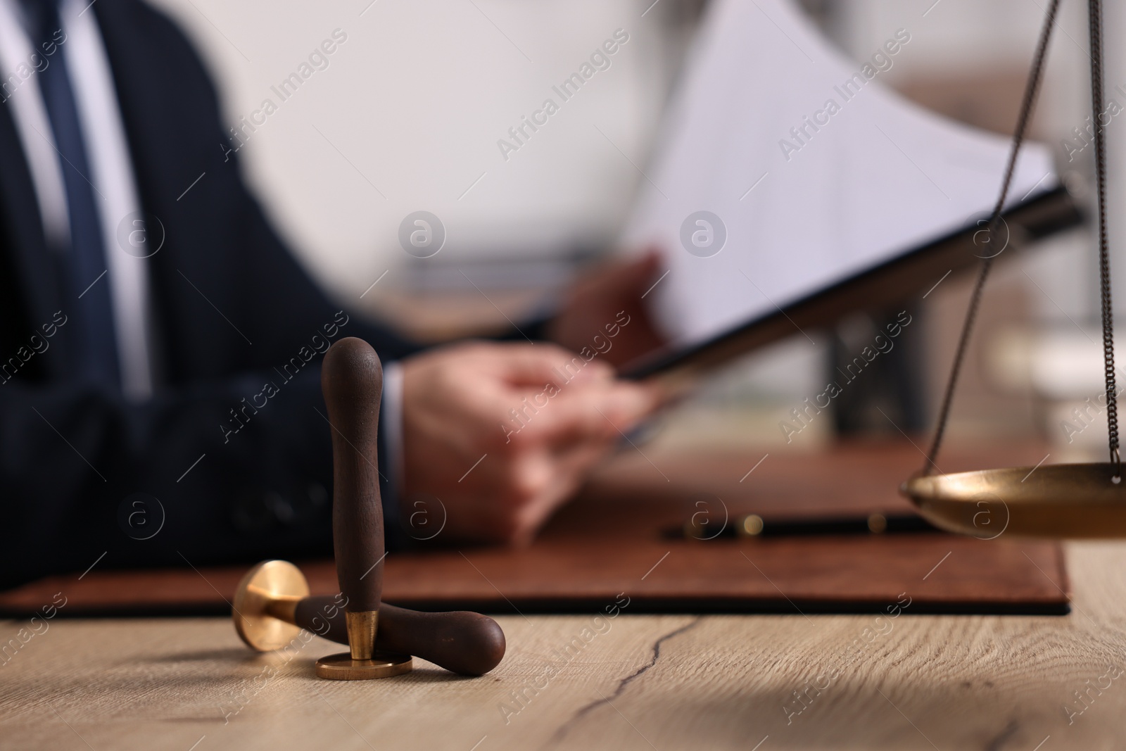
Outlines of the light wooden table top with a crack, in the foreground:
{"label": "light wooden table top with a crack, in the foreground", "polygon": [[2,658],[0,748],[1120,749],[1126,545],[1067,560],[1062,617],[507,616],[477,679],[322,681],[337,645],[258,655],[220,618],[2,622],[41,633]]}

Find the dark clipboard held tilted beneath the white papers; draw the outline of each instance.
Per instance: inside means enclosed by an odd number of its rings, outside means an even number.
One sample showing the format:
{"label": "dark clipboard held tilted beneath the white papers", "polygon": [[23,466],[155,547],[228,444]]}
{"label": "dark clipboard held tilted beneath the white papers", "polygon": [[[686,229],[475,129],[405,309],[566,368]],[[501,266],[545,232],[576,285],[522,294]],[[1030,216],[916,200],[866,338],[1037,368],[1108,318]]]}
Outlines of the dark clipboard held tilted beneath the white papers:
{"label": "dark clipboard held tilted beneath the white papers", "polygon": [[[1013,206],[1003,214],[1009,248],[1078,225],[1082,213],[1060,186]],[[848,313],[883,310],[913,298],[948,271],[981,263],[973,243],[977,225],[953,232],[820,289],[774,313],[761,315],[707,341],[663,349],[626,365],[622,376],[635,381],[667,378],[690,382],[745,352],[798,332],[830,324]],[[1002,254],[1003,254],[1002,252]]]}

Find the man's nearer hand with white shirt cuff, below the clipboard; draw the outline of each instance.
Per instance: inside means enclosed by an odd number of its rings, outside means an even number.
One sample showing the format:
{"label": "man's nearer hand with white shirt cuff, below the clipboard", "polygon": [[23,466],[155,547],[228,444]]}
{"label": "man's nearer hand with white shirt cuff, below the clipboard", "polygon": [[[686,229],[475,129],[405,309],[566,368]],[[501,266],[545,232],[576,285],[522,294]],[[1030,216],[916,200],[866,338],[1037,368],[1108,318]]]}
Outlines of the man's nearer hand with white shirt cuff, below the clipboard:
{"label": "man's nearer hand with white shirt cuff, below the clipboard", "polygon": [[[611,319],[613,320],[613,319]],[[530,540],[587,473],[655,409],[600,356],[470,342],[403,361],[404,511],[446,508],[443,538]]]}

